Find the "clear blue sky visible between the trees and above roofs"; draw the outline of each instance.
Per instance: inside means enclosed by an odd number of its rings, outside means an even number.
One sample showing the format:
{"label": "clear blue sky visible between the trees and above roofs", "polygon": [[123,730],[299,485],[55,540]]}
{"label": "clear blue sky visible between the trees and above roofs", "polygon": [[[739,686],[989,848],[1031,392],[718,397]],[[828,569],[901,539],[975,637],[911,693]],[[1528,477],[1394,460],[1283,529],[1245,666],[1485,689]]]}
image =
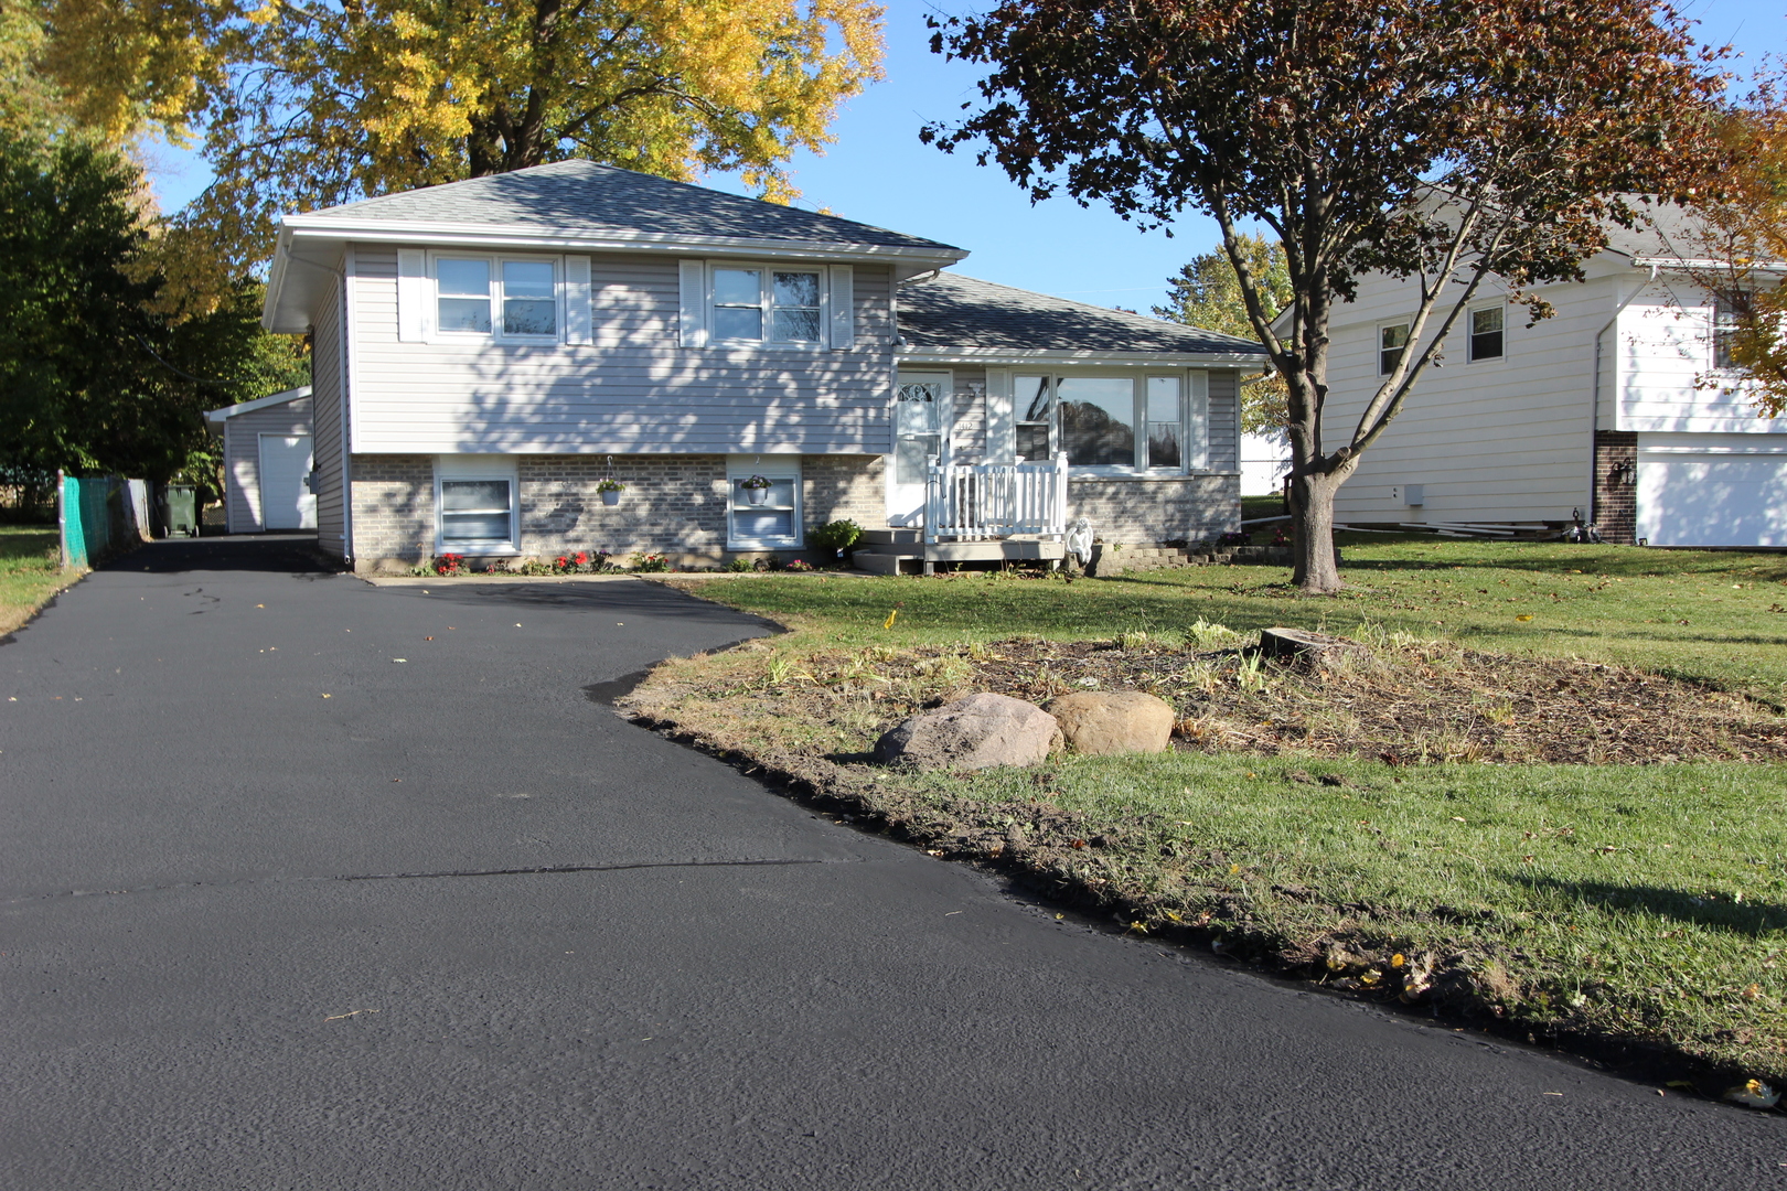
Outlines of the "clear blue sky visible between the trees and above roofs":
{"label": "clear blue sky visible between the trees and above roofs", "polygon": [[[958,268],[974,277],[1144,312],[1163,300],[1170,273],[1215,245],[1204,216],[1187,216],[1170,237],[1142,234],[1108,209],[1081,209],[1070,198],[1031,205],[1001,171],[976,166],[972,152],[945,155],[920,145],[924,123],[956,116],[974,96],[977,73],[927,48],[924,14],[954,9],[917,0],[888,0],[886,9],[886,80],[845,107],[824,155],[795,157],[802,205],[967,248],[974,255]],[[1787,18],[1776,4],[1691,0],[1683,9],[1701,23],[1705,43],[1742,52],[1741,71],[1764,54],[1787,52]],[[163,209],[206,184],[204,161],[191,154],[155,148],[150,166]],[[709,184],[733,189],[724,179]]]}

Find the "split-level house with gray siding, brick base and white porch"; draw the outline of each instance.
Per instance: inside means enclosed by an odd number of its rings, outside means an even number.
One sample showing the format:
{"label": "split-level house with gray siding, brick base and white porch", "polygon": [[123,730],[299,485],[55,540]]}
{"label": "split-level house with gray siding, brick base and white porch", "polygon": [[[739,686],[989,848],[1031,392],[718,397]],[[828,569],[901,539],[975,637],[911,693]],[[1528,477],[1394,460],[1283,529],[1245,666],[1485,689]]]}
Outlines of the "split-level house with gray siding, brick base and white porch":
{"label": "split-level house with gray siding, brick base and white porch", "polygon": [[965,255],[584,161],[288,216],[263,321],[313,337],[320,543],[379,570],[711,564],[840,518],[913,557],[1233,529],[1258,345]]}

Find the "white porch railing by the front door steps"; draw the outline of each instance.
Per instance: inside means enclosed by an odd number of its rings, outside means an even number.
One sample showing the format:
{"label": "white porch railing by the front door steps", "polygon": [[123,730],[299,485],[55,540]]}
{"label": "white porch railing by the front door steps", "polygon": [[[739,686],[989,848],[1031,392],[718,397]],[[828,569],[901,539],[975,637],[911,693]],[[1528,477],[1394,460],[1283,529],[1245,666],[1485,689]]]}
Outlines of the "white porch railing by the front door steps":
{"label": "white porch railing by the front door steps", "polygon": [[940,462],[924,486],[924,541],[1067,534],[1067,455],[1045,462]]}

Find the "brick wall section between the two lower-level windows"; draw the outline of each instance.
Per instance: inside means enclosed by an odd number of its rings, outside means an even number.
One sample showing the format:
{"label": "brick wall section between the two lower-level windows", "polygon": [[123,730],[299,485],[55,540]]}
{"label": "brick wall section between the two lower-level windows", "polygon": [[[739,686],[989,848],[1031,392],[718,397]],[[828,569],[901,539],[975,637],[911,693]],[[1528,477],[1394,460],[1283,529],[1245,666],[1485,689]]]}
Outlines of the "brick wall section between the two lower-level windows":
{"label": "brick wall section between the two lower-level windows", "polygon": [[[604,505],[602,477],[627,486]],[[674,566],[704,566],[726,550],[724,455],[522,455],[522,554],[608,550],[665,554]]]}

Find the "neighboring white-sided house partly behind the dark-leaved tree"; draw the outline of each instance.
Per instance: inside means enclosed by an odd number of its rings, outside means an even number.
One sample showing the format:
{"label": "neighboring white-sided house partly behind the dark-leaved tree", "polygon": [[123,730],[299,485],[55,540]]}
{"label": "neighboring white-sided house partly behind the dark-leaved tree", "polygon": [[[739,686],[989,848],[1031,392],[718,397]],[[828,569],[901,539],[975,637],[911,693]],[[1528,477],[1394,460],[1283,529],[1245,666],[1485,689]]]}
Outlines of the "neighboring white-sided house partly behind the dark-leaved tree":
{"label": "neighboring white-sided house partly behind the dark-leaved tree", "polygon": [[[1719,370],[1716,309],[1683,271],[1680,214],[1614,230],[1528,325],[1490,279],[1403,414],[1335,498],[1351,523],[1549,523],[1608,541],[1787,546],[1787,420]],[[1337,307],[1326,437],[1344,441],[1403,350],[1415,284],[1369,277]],[[1714,382],[1708,386],[1707,382]]]}

